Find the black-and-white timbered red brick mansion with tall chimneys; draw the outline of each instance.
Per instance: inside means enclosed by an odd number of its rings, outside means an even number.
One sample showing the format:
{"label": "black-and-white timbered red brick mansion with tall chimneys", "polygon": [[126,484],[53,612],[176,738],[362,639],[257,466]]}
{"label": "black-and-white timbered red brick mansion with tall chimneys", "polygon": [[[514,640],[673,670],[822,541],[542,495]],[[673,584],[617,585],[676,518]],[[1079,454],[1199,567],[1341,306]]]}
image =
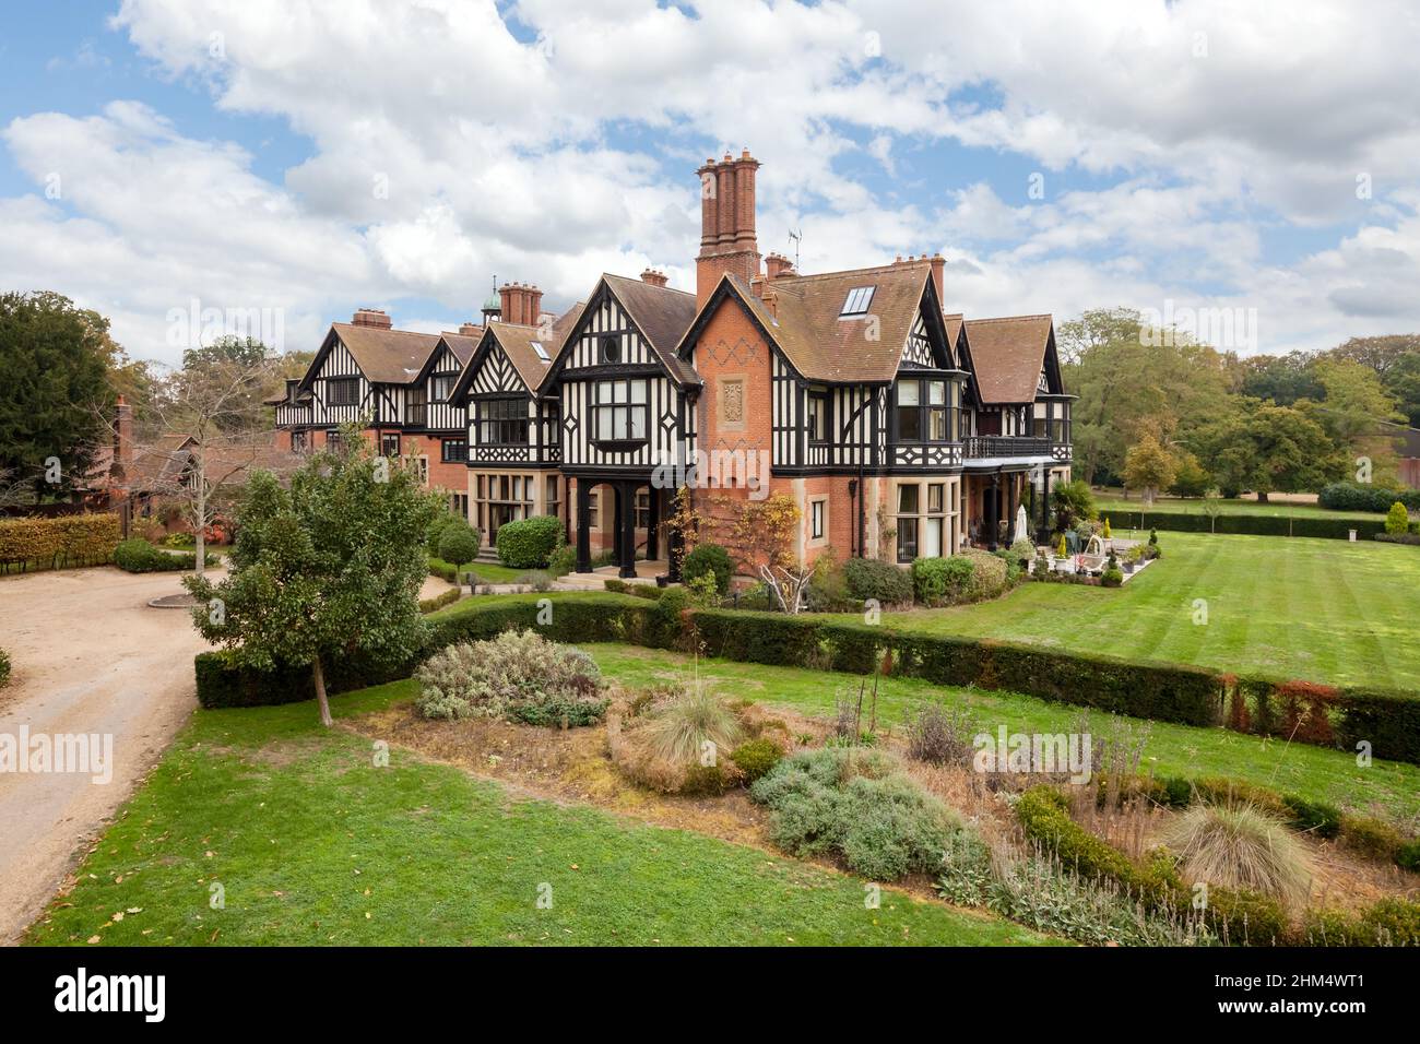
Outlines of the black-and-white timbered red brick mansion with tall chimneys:
{"label": "black-and-white timbered red brick mansion with tall chimneys", "polygon": [[[746,151],[697,172],[693,294],[650,268],[604,274],[554,315],[513,283],[483,327],[442,338],[362,310],[290,382],[278,425],[300,449],[359,413],[386,452],[417,435],[440,466],[463,453],[450,503],[484,544],[507,521],[555,516],[579,571],[608,553],[628,577],[669,557],[667,462],[697,464],[701,506],[792,497],[807,562],[828,548],[903,564],[994,548],[1020,507],[1044,538],[1048,490],[1071,473],[1074,399],[1051,317],[947,312],[940,254],[818,274],[761,257],[758,166]],[[436,484],[460,486],[446,472]]]}

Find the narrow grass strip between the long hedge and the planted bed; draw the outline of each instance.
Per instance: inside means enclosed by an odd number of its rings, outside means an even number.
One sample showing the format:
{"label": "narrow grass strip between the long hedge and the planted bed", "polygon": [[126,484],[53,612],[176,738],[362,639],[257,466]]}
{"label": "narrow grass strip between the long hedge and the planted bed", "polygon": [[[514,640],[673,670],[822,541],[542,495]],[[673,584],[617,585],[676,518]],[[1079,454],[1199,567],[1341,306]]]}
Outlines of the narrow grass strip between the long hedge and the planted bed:
{"label": "narrow grass strip between the long hedge and the planted bed", "polygon": [[[584,646],[602,670],[623,685],[643,686],[653,682],[687,679],[692,665],[686,656],[633,645]],[[831,717],[838,692],[858,692],[858,678],[832,672],[774,668],[763,663],[704,659],[700,676],[717,692],[731,697],[780,703],[802,713]],[[1082,707],[1048,703],[1032,696],[978,689],[936,686],[912,678],[885,678],[879,682],[878,716],[882,727],[902,729],[903,712],[922,700],[940,700],[970,709],[984,730],[997,726],[1022,733],[1074,732]],[[1109,716],[1091,712],[1091,730],[1109,736]],[[1118,719],[1139,734],[1147,727],[1145,771],[1154,776],[1231,776],[1281,791],[1296,791],[1312,798],[1366,811],[1383,810],[1396,820],[1420,815],[1420,766],[1403,761],[1373,761],[1359,768],[1356,758],[1342,750],[1326,750],[1299,743],[1245,736],[1228,729],[1196,729],[1184,724]]]}

